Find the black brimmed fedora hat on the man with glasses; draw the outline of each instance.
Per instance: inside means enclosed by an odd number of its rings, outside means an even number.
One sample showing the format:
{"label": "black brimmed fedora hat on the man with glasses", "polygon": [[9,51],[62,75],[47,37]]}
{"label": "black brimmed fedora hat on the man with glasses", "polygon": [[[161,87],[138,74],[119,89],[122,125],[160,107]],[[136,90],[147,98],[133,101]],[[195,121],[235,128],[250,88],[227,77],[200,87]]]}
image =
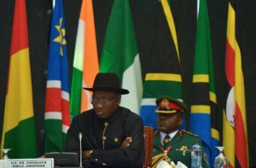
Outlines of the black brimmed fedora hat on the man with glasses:
{"label": "black brimmed fedora hat on the man with glasses", "polygon": [[113,91],[120,95],[126,95],[129,90],[120,88],[119,77],[113,72],[99,72],[94,79],[92,88],[84,88],[84,90],[102,90],[102,91]]}

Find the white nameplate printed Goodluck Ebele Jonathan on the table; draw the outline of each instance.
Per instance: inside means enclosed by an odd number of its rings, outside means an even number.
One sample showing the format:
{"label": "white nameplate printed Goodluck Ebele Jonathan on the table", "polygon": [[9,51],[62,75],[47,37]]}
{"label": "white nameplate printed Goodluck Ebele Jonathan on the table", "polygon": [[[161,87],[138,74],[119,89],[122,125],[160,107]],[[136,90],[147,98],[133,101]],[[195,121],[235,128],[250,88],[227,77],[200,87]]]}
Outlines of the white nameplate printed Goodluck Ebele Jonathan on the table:
{"label": "white nameplate printed Goodluck Ebele Jonathan on the table", "polygon": [[3,168],[53,168],[54,159],[6,159],[3,161]]}

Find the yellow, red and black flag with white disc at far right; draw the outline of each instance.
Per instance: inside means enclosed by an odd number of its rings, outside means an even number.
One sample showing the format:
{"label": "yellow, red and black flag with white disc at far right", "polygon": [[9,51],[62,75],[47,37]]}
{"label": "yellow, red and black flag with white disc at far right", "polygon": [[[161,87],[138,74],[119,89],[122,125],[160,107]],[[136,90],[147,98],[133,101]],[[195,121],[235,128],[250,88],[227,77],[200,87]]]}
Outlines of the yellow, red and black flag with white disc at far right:
{"label": "yellow, red and black flag with white disc at far right", "polygon": [[223,145],[231,168],[249,167],[245,90],[241,51],[236,41],[237,32],[236,1],[230,0],[225,57],[227,100],[223,116]]}

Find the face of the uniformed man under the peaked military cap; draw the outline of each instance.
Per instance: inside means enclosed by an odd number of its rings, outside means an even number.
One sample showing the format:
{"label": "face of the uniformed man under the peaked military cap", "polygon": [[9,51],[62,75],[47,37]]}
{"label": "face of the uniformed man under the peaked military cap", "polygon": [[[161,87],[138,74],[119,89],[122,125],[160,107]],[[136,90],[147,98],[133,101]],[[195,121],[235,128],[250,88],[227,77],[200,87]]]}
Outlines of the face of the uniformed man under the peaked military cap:
{"label": "face of the uniformed man under the peaked military cap", "polygon": [[181,113],[159,113],[157,118],[158,130],[169,134],[178,130],[179,125],[183,123]]}

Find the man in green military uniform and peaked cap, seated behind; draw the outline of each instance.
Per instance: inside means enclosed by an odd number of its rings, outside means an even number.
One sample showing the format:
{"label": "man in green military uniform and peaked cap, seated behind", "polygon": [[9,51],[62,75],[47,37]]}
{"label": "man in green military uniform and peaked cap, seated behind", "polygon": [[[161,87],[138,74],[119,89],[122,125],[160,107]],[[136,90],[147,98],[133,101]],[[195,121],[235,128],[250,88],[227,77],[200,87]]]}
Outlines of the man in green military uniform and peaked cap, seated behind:
{"label": "man in green military uniform and peaked cap, seated behind", "polygon": [[204,157],[205,153],[200,137],[188,131],[179,130],[187,105],[171,96],[160,96],[156,99],[156,105],[158,106],[155,111],[158,113],[158,131],[154,136],[153,166],[164,159],[169,163],[173,161],[176,165],[177,161],[180,161],[183,165],[191,167],[190,149],[194,142],[199,142],[203,154],[202,167],[209,167],[207,157]]}

